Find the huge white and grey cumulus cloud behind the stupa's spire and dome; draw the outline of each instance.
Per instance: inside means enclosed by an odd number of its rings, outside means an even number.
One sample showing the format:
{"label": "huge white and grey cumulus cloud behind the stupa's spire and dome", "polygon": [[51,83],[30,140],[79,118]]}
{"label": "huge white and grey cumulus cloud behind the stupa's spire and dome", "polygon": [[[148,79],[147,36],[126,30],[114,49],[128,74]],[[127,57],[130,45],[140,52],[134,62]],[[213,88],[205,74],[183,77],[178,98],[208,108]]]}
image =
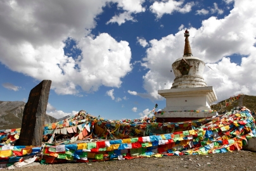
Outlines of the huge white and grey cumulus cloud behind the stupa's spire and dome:
{"label": "huge white and grey cumulus cloud behind the stupa's spire and dome", "polygon": [[[219,100],[238,93],[256,94],[256,1],[236,1],[225,18],[210,17],[203,20],[202,27],[189,28],[189,41],[194,56],[202,59],[207,85],[214,86]],[[250,33],[250,34],[248,34]],[[184,30],[167,35],[160,40],[149,41],[142,66],[149,69],[143,76],[143,87],[151,99],[162,99],[157,90],[170,89],[175,79],[170,73],[172,63],[181,58],[184,50]],[[227,58],[233,54],[244,56],[241,64]],[[250,68],[250,69],[249,69]],[[224,93],[225,92],[225,93]],[[227,93],[229,92],[229,93]],[[139,94],[139,92],[138,92]]]}

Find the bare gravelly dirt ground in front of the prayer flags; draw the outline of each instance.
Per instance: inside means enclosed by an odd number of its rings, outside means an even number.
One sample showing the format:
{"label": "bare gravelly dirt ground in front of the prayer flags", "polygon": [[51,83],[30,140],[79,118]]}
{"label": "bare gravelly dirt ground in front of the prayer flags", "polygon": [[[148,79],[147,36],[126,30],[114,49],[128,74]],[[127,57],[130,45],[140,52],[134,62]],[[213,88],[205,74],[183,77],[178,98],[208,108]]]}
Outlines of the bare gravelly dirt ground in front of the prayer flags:
{"label": "bare gravelly dirt ground in front of the prayer flags", "polygon": [[256,170],[256,153],[233,151],[212,155],[163,156],[92,163],[39,165],[15,170]]}

